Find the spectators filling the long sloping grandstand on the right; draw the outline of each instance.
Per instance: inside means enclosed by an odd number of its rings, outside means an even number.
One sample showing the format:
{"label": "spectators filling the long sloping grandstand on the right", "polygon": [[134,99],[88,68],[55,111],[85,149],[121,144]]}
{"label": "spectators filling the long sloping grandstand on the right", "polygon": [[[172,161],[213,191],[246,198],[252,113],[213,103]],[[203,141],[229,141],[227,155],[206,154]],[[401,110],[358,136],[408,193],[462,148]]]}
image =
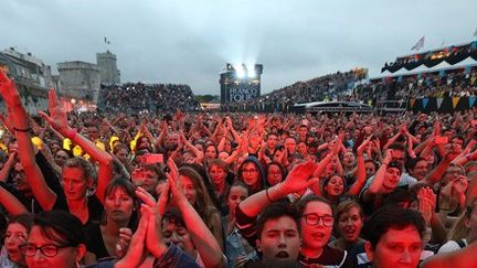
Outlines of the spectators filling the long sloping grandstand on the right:
{"label": "spectators filling the long sloping grandstand on the right", "polygon": [[289,111],[296,104],[311,101],[399,103],[406,108],[411,98],[477,96],[477,68],[390,76],[365,82],[356,72],[337,73],[297,82],[269,94],[224,106],[229,111]]}

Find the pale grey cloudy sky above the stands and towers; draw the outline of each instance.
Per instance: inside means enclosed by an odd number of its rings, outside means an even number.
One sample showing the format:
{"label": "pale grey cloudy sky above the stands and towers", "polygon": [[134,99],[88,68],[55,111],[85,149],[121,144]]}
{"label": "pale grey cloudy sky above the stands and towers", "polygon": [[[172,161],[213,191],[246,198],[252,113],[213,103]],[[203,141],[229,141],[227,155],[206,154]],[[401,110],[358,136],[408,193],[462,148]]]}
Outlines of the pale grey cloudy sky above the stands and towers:
{"label": "pale grey cloudy sky above the stands and towers", "polygon": [[[46,64],[118,57],[121,82],[220,94],[225,63],[262,63],[262,93],[356,66],[469,42],[476,0],[0,0],[0,50]],[[104,43],[104,36],[110,41]]]}

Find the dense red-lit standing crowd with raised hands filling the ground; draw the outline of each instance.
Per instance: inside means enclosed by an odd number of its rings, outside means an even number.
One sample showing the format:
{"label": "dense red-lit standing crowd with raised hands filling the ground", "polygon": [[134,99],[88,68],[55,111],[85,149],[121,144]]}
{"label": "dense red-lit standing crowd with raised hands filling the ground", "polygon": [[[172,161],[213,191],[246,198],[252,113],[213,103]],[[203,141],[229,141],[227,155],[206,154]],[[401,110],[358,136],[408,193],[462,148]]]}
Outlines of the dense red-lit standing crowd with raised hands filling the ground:
{"label": "dense red-lit standing crowd with raised hands filling the ground", "polygon": [[1,267],[477,266],[476,109],[66,114],[51,89],[29,115],[1,72],[0,94]]}

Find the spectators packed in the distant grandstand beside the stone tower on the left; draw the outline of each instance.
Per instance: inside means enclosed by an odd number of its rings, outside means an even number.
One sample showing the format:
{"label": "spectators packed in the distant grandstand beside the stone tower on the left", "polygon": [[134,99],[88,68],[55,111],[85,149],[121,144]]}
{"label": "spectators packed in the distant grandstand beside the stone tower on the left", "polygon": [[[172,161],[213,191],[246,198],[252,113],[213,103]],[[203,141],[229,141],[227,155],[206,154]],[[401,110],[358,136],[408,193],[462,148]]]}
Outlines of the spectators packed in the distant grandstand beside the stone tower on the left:
{"label": "spectators packed in the distant grandstand beside the stone tower on the left", "polygon": [[190,86],[126,83],[120,86],[102,85],[99,90],[98,108],[105,112],[173,112],[177,107],[184,111],[199,108]]}

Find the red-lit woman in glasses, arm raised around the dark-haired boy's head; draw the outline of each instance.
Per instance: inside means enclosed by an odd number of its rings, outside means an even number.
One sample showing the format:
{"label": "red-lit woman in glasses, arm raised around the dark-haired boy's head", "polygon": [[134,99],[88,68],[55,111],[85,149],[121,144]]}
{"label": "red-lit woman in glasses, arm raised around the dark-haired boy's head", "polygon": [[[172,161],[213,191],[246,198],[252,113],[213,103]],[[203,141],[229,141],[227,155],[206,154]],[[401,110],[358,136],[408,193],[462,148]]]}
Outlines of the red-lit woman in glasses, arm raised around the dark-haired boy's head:
{"label": "red-lit woman in glasses, arm raised around the dark-haired boy's head", "polygon": [[[241,202],[236,208],[236,225],[242,235],[253,245],[257,242],[256,217],[264,207],[279,202],[288,194],[300,192],[318,183],[318,178],[311,176],[316,165],[312,161],[296,164],[284,182],[273,187],[251,195]],[[297,260],[305,266],[330,265],[336,267],[353,267],[353,260],[346,251],[333,249],[327,244],[333,226],[333,211],[330,203],[320,196],[307,195],[298,203],[299,234],[301,249]],[[290,224],[288,224],[290,226]],[[292,255],[289,255],[292,256]]]}

